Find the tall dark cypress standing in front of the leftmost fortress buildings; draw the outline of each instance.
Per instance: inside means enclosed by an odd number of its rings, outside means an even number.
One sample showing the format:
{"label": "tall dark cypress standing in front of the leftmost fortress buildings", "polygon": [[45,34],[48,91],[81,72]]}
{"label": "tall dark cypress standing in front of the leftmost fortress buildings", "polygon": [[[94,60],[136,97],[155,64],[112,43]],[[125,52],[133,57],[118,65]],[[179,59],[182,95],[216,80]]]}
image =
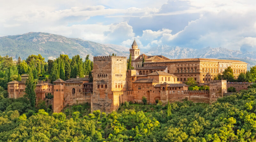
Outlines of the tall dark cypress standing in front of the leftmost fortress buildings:
{"label": "tall dark cypress standing in front of the leftmost fortress buildings", "polygon": [[35,93],[36,84],[34,83],[34,77],[32,74],[31,69],[28,69],[28,79],[26,81],[26,88],[25,88],[25,97],[28,98],[30,101],[30,106],[35,108],[36,104],[36,93]]}

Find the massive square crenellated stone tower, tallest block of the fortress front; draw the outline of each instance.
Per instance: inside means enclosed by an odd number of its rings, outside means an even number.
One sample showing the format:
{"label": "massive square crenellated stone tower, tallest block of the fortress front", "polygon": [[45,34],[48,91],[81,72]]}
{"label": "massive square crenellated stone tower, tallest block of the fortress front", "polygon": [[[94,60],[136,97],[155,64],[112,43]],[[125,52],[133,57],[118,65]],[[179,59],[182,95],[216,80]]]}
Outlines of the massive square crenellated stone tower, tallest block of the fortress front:
{"label": "massive square crenellated stone tower, tallest block of the fortress front", "polygon": [[126,57],[93,57],[91,111],[110,113],[119,108],[120,95],[126,90],[126,66]]}

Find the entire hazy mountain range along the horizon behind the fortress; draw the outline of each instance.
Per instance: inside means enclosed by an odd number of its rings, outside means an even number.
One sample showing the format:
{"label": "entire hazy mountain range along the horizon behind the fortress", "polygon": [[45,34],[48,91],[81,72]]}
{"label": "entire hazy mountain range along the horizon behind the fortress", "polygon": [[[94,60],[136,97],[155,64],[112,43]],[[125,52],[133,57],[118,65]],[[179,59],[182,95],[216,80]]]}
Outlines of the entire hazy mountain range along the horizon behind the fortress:
{"label": "entire hazy mountain range along the horizon behind the fortress", "polygon": [[[12,56],[14,59],[18,59],[19,56],[21,59],[26,59],[31,54],[41,54],[46,60],[54,59],[60,54],[66,54],[70,58],[77,54],[85,58],[86,55],[89,54],[90,59],[92,59],[93,56],[108,56],[112,53],[118,56],[129,57],[129,49],[128,47],[115,44],[100,44],[42,32],[30,32],[21,35],[0,37],[0,55]],[[153,47],[148,51],[141,49],[141,53],[146,55],[163,55],[170,59],[217,58],[241,60],[248,63],[248,67],[256,65],[256,51],[241,52],[221,47],[192,49],[162,45]]]}

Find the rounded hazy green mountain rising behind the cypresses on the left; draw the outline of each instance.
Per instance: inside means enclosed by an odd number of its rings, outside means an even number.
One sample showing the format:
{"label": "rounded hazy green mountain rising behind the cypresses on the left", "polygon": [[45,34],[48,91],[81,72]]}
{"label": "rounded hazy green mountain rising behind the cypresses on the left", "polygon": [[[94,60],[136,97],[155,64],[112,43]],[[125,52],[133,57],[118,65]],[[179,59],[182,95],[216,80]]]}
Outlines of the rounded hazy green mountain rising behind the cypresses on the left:
{"label": "rounded hazy green mountain rising behind the cypresses on the left", "polygon": [[66,38],[64,36],[30,32],[22,35],[0,37],[0,56],[9,55],[14,59],[26,59],[29,55],[41,54],[46,60],[65,54],[70,57],[80,55],[108,56],[115,53],[118,56],[129,56],[106,45],[81,39]]}

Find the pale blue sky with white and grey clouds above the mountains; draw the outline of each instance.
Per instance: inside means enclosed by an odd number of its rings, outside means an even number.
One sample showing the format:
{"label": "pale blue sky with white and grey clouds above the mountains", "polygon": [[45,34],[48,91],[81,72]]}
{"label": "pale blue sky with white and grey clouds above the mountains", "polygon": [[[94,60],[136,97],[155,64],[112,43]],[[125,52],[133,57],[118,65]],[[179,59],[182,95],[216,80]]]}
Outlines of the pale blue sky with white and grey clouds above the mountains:
{"label": "pale blue sky with white and grey clouds above the mountains", "polygon": [[1,0],[0,36],[46,32],[140,49],[256,51],[255,0]]}

